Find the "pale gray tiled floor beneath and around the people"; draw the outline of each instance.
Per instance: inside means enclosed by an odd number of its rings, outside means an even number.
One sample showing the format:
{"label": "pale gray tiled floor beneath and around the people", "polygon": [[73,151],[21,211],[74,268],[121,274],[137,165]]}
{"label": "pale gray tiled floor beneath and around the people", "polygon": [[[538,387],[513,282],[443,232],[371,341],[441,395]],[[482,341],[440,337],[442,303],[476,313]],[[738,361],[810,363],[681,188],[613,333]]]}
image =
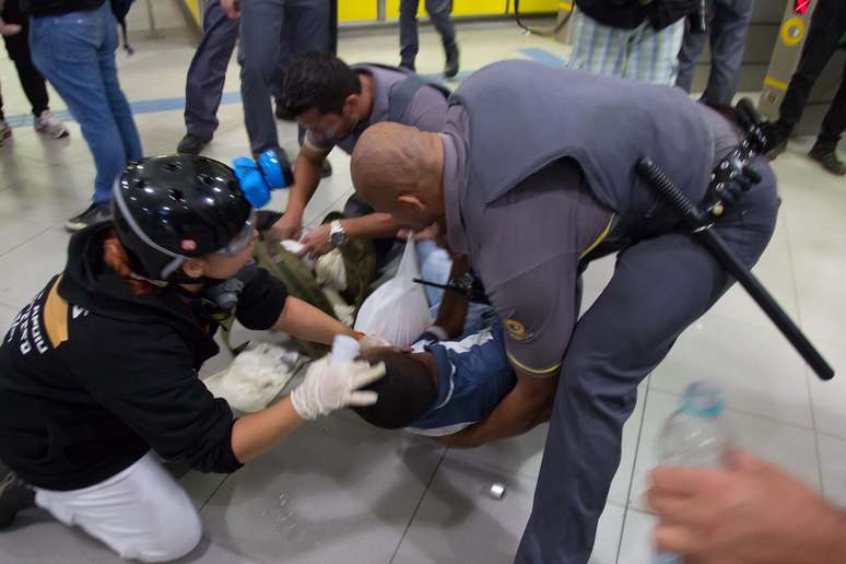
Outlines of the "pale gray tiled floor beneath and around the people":
{"label": "pale gray tiled floor beneath and around the people", "polygon": [[[164,37],[146,39],[143,9],[130,22],[137,55],[120,55],[120,78],[132,102],[178,97],[192,54],[189,35],[169,2],[155,2]],[[139,3],[138,5],[142,5]],[[526,36],[510,24],[459,27],[467,70],[502,58],[538,56],[554,61],[567,49]],[[340,51],[350,61],[396,62],[395,32],[346,34]],[[532,55],[533,54],[533,55]],[[437,37],[423,34],[422,73],[443,66]],[[226,91],[237,91],[230,67]],[[7,113],[27,107],[12,66],[0,59]],[[54,96],[55,109],[62,109]],[[243,114],[224,105],[221,128],[207,154],[228,161],[247,152]],[[145,153],[172,152],[184,133],[178,110],[139,114]],[[68,235],[61,222],[86,205],[91,156],[71,124],[68,141],[38,138],[24,126],[0,149],[0,329],[61,269]],[[280,125],[294,150],[295,130]],[[835,367],[846,366],[846,180],[803,157],[796,143],[775,168],[784,205],[773,243],[757,274],[819,343]],[[332,154],[334,175],[307,211],[316,221],[350,192],[348,157]],[[284,195],[274,204],[284,204]],[[586,274],[590,303],[613,270],[612,259]],[[586,305],[587,305],[586,304]],[[625,427],[620,470],[600,521],[595,564],[650,561],[643,513],[645,477],[656,461],[660,423],[684,386],[696,378],[719,381],[728,419],[741,444],[784,465],[830,500],[846,504],[846,380],[822,384],[809,374],[749,297],[735,289],[685,332],[667,361],[639,389]],[[446,450],[399,433],[365,426],[341,413],[305,426],[237,473],[188,473],[181,479],[204,524],[204,540],[185,562],[505,563],[513,556],[537,479],[545,427],[475,450]],[[503,500],[485,494],[492,482],[507,486]],[[79,530],[30,512],[0,532],[0,564],[111,563],[117,559]]]}

